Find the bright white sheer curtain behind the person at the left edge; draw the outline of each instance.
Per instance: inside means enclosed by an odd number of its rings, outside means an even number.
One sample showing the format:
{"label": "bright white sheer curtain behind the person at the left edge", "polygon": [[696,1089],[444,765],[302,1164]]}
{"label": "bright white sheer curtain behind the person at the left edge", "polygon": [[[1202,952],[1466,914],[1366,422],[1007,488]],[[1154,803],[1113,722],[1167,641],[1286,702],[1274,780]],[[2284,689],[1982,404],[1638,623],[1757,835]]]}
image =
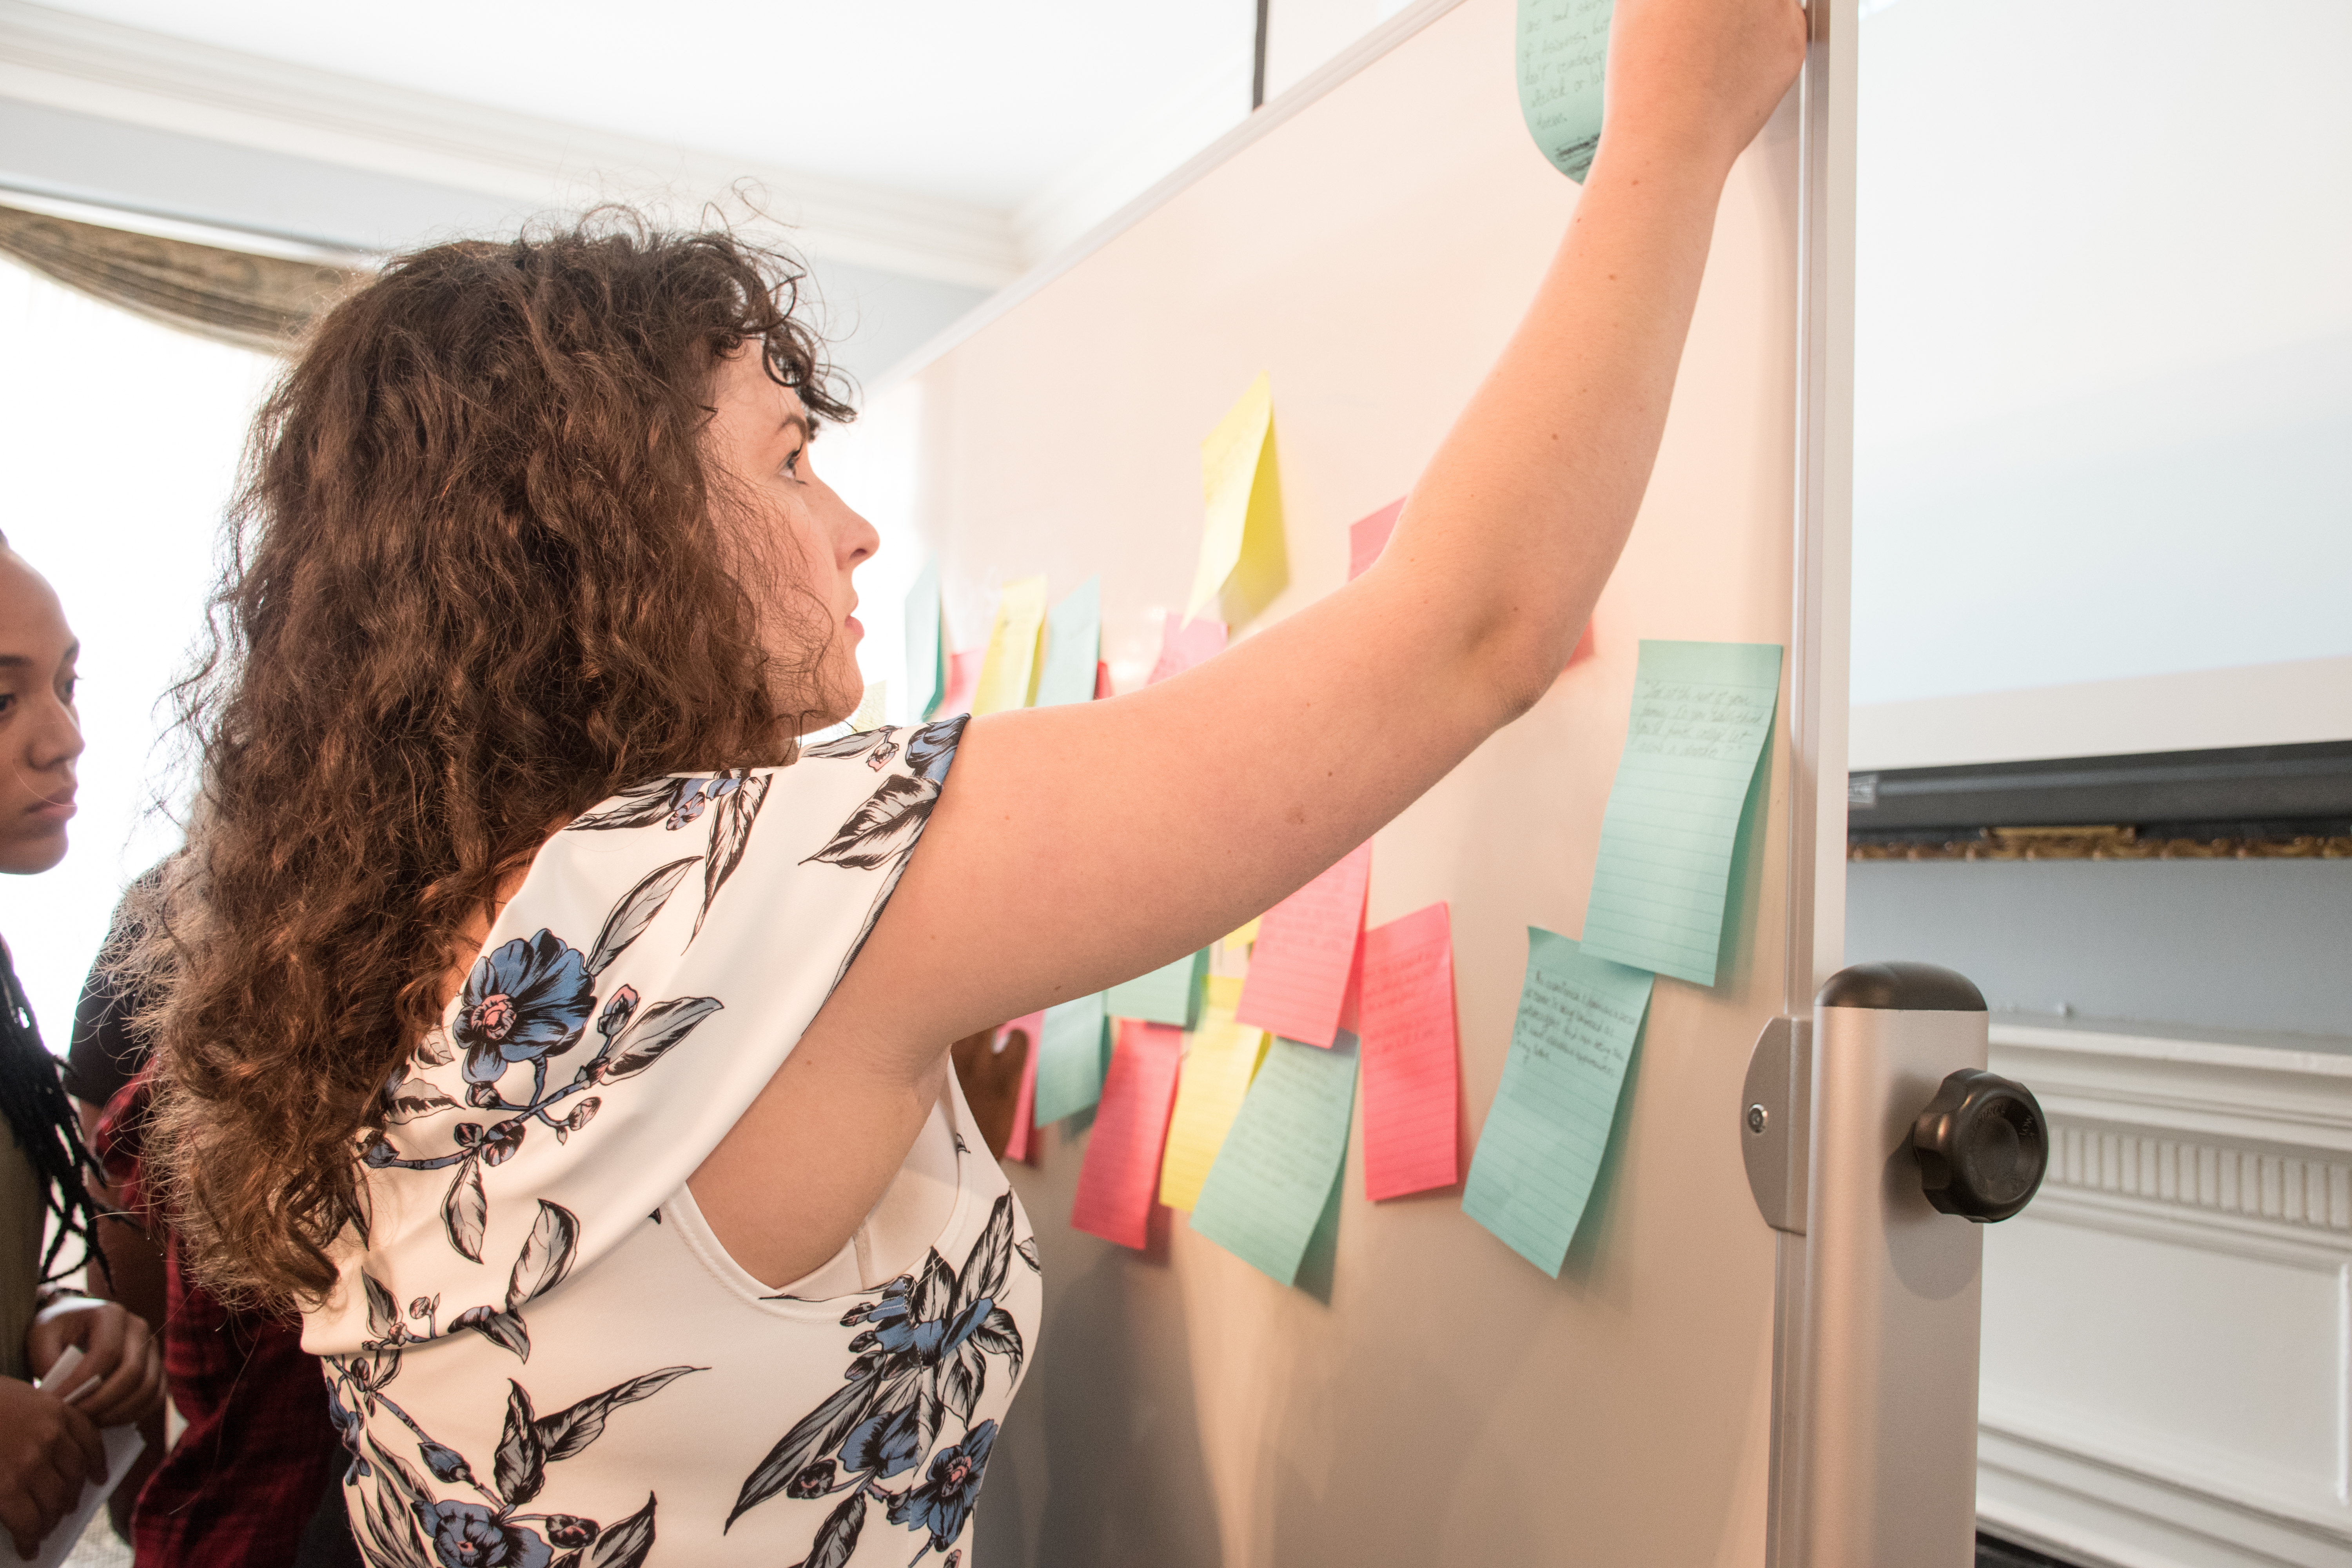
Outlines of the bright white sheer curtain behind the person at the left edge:
{"label": "bright white sheer curtain behind the person at the left edge", "polygon": [[66,863],[0,877],[42,1037],[73,999],[122,886],[176,844],[155,797],[160,698],[205,614],[247,421],[280,362],[0,263],[0,529],[82,639],[80,816]]}

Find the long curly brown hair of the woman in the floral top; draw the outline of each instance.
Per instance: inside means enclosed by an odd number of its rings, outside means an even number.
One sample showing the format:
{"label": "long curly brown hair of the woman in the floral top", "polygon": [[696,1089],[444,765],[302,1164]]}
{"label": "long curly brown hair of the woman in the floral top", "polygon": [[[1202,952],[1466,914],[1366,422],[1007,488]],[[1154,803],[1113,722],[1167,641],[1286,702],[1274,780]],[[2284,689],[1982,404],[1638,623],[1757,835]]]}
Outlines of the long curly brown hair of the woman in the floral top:
{"label": "long curly brown hair of the woman in the floral top", "polygon": [[148,1159],[214,1291],[332,1291],[329,1244],[367,1225],[355,1140],[550,825],[790,759],[804,670],[762,651],[701,430],[753,341],[811,416],[851,416],[802,277],[626,216],[440,244],[327,313],[263,404],[174,691],[188,849],[129,959]]}

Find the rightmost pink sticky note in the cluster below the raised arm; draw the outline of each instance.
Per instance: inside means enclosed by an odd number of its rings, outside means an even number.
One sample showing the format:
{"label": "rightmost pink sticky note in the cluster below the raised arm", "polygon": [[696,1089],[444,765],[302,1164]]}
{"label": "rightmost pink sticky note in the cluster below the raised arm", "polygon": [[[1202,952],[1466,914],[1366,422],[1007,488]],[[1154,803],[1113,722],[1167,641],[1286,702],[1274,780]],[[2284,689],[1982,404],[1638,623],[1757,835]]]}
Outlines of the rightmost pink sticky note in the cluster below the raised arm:
{"label": "rightmost pink sticky note in the cluster below the raised arm", "polygon": [[1454,931],[1432,903],[1364,933],[1364,1197],[1461,1180]]}

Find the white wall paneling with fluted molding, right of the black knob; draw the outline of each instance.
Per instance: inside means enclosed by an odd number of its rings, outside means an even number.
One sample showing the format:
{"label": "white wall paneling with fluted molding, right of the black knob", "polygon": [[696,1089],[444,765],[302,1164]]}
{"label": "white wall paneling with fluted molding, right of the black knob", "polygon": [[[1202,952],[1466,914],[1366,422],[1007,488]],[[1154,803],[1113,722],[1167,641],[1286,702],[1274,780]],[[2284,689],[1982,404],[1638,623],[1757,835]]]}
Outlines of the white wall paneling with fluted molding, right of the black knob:
{"label": "white wall paneling with fluted molding, right of the black knob", "polygon": [[[2154,1274],[2136,1276],[2131,1265],[2119,1276],[2053,1281],[2070,1309],[2032,1324],[2034,1345],[2020,1352],[2039,1375],[2004,1375],[1999,1342],[1987,1342],[1978,1514],[2027,1544],[2114,1568],[2345,1568],[2352,1041],[2213,1034],[2018,1016],[1992,1025],[1992,1067],[2034,1088],[2053,1143],[2042,1194],[2013,1225],[2126,1239],[2138,1251],[2100,1255],[2152,1260]],[[2042,1255],[2060,1253],[2044,1241]],[[2321,1300],[2336,1305],[2314,1319],[2305,1298],[2300,1309],[2281,1307],[2284,1319],[2265,1319],[2258,1281],[2279,1279],[2265,1272],[2279,1267],[2317,1276]],[[2216,1269],[2223,1279],[2246,1269],[2244,1324],[2218,1328],[2187,1314],[2173,1333],[2161,1279]],[[2086,1300],[2100,1302],[2089,1316]],[[2303,1389],[2336,1410],[2331,1450],[2314,1453],[2298,1481],[2216,1443],[2187,1394],[2154,1420],[2110,1418],[2098,1378],[2114,1366],[2084,1371],[2077,1389],[2065,1371],[2105,1359],[2110,1319],[2161,1338],[2166,1359],[2307,1368],[2279,1387],[2317,1380]],[[2253,1387],[2263,1380],[2249,1380],[2249,1396]],[[2232,1406],[2218,1420],[2244,1429],[2246,1415],[2260,1418]],[[2300,1418],[2310,1420],[2307,1403]]]}

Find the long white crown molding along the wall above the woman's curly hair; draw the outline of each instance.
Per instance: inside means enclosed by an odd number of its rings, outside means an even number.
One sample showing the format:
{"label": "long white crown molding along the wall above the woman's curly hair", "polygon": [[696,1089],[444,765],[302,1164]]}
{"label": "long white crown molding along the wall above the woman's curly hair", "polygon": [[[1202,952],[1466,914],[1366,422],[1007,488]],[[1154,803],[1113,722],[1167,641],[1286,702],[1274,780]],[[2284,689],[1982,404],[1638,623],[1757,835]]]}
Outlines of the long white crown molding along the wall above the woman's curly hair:
{"label": "long white crown molding along the wall above the woman's curly hair", "polygon": [[515,200],[626,200],[790,228],[809,256],[995,289],[1025,256],[1007,214],[727,153],[640,141],[0,0],[0,96]]}

